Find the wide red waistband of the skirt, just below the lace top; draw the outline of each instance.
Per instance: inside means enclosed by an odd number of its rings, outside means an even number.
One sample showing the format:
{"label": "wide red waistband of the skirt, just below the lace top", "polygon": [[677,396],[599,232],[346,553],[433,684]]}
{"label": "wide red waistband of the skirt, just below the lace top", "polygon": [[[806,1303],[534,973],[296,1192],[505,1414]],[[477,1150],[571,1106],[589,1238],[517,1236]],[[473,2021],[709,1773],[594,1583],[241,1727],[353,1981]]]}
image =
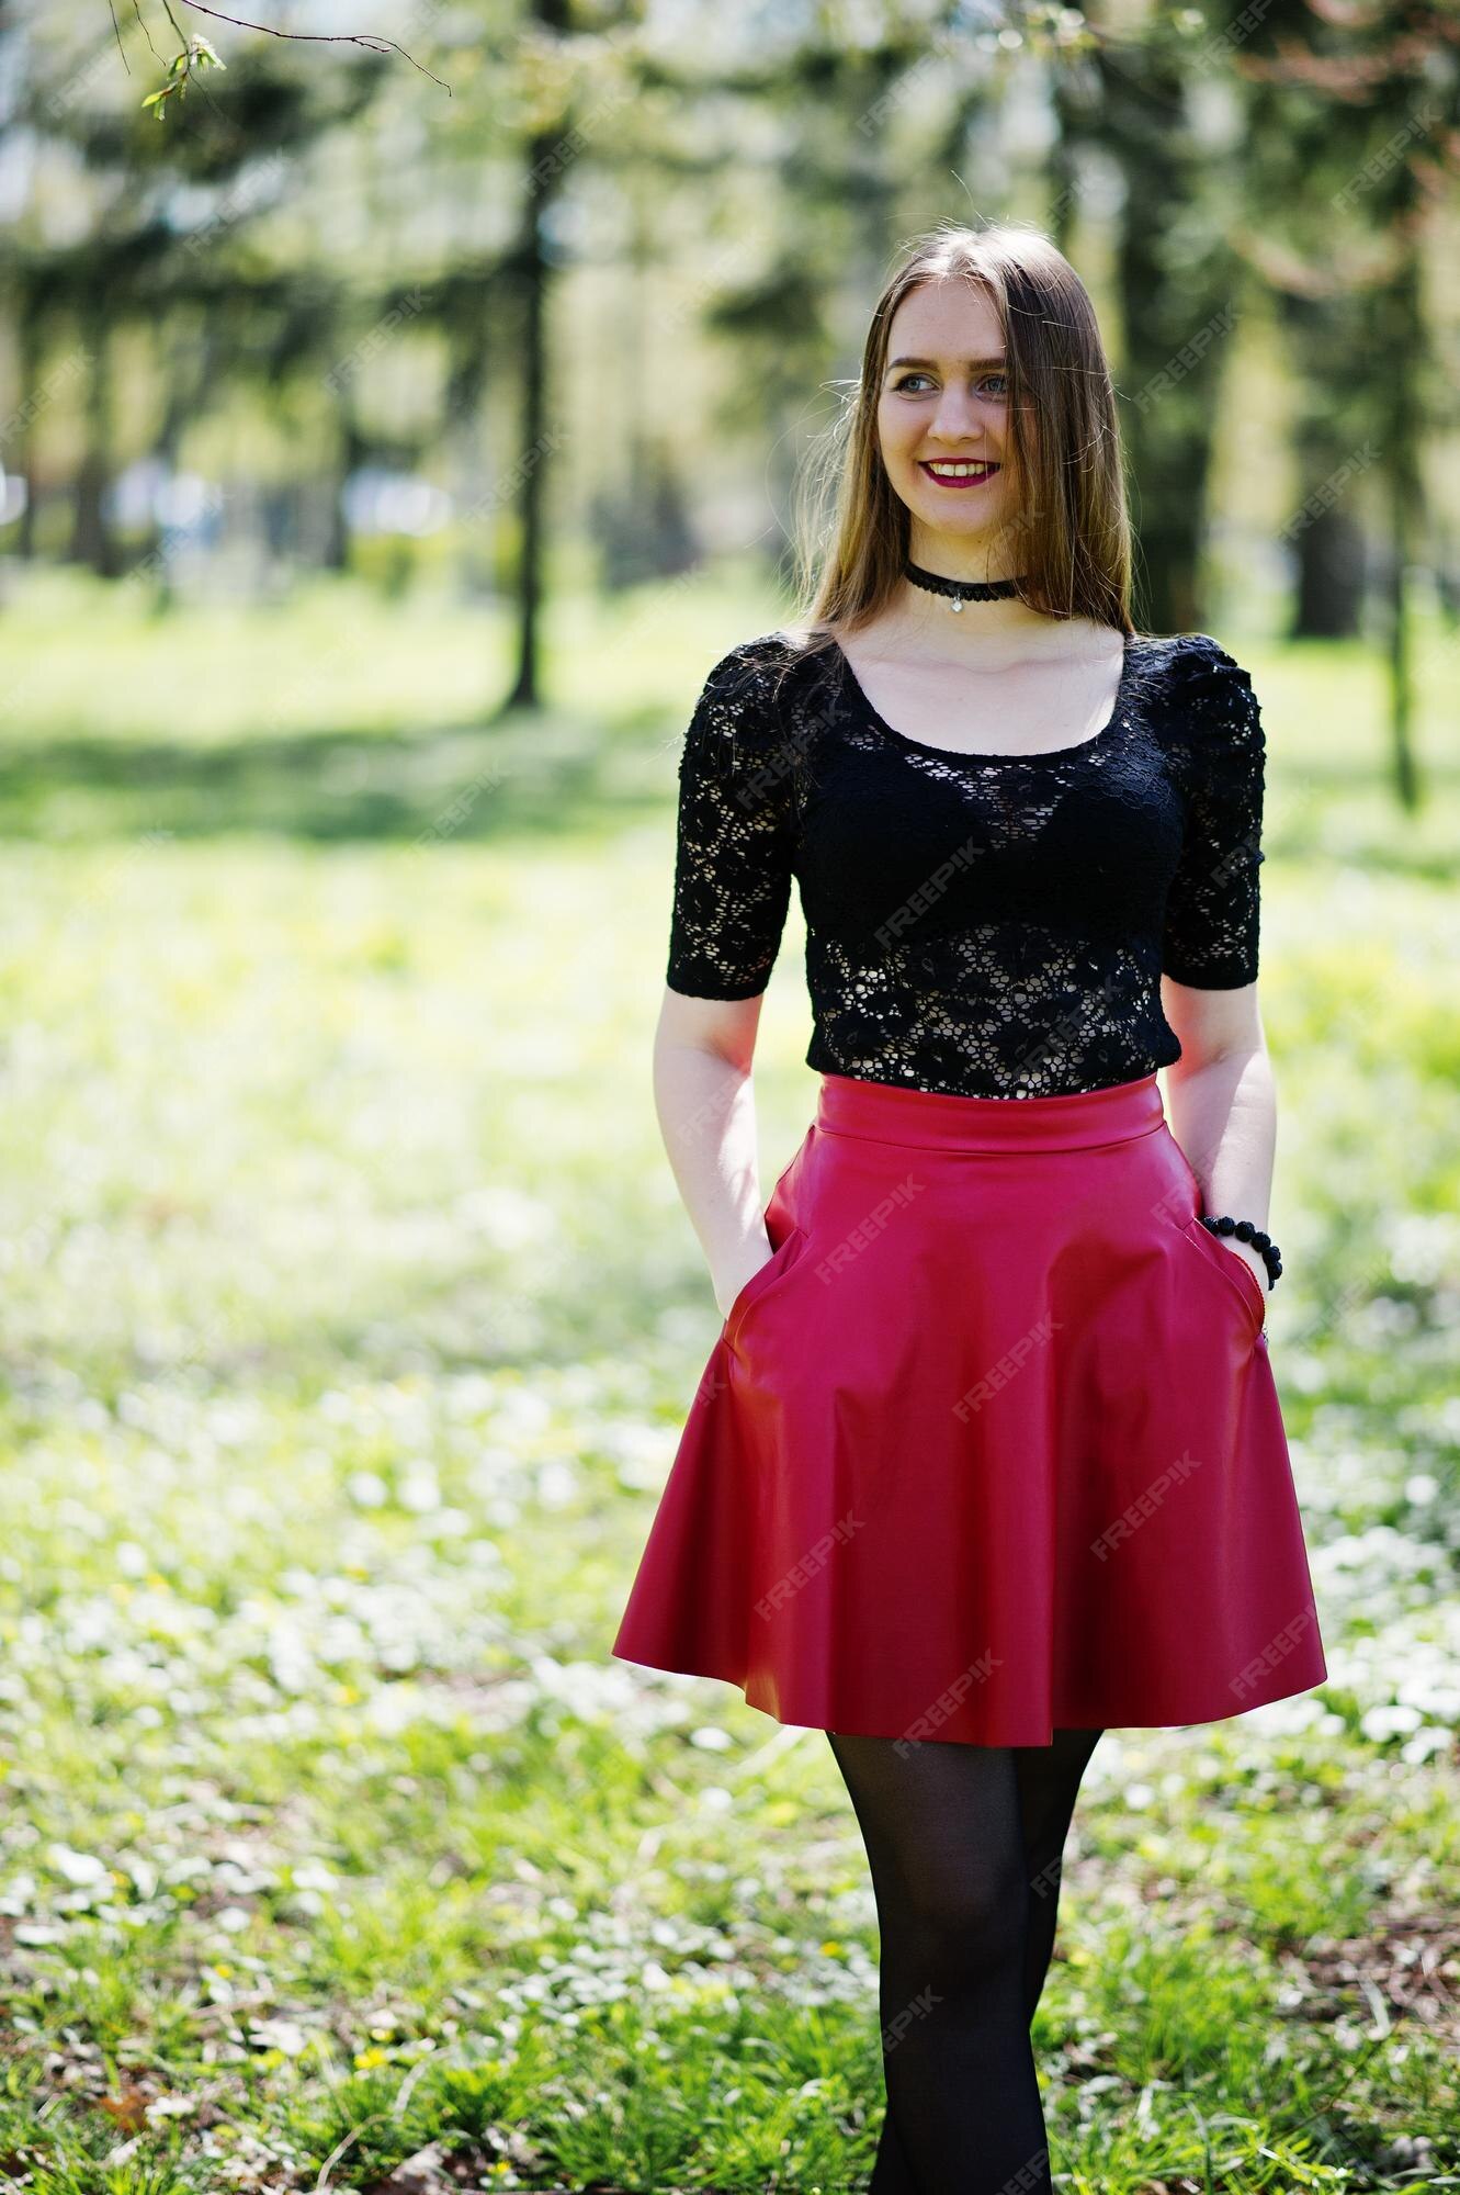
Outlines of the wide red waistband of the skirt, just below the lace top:
{"label": "wide red waistband of the skirt, just below the lace top", "polygon": [[1151,1135],[1166,1119],[1155,1073],[1054,1098],[962,1098],[822,1071],[815,1126],[934,1150],[1085,1150]]}

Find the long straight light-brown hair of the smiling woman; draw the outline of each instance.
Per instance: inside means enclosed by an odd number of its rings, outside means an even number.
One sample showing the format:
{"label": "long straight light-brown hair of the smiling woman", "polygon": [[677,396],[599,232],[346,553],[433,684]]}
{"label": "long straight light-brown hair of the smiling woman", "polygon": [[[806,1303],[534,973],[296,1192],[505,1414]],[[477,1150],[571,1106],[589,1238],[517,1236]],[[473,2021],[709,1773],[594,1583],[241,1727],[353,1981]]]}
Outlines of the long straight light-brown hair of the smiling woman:
{"label": "long straight light-brown hair of the smiling woman", "polygon": [[[881,461],[877,402],[892,314],[919,283],[943,277],[982,283],[1004,329],[1008,446],[1022,489],[1013,522],[1019,599],[1050,617],[1090,617],[1133,634],[1120,421],[1094,305],[1046,235],[1002,222],[938,226],[914,239],[877,299],[862,378],[833,428],[831,465],[820,481],[809,476],[811,509],[798,527],[800,599],[785,630],[815,652],[870,623],[903,584],[912,522]],[[815,503],[826,487],[835,505],[818,529]],[[826,533],[831,549],[822,555]]]}

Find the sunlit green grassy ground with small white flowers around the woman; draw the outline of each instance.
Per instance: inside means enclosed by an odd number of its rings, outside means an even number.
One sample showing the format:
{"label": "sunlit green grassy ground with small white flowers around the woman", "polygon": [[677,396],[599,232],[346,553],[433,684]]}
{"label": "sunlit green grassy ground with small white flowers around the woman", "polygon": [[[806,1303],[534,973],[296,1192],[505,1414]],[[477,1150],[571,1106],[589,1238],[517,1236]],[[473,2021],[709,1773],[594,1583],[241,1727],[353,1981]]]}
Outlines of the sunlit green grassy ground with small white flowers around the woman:
{"label": "sunlit green grassy ground with small white flowers around the woman", "polygon": [[[859,2186],[831,1752],[607,1655],[719,1326],[649,1093],[677,724],[776,612],[563,617],[487,733],[482,612],[142,610],[0,617],[0,2180]],[[1103,1738],[1037,2052],[1070,2195],[1460,2186],[1460,683],[1429,637],[1403,817],[1364,654],[1223,637],[1331,1681]]]}

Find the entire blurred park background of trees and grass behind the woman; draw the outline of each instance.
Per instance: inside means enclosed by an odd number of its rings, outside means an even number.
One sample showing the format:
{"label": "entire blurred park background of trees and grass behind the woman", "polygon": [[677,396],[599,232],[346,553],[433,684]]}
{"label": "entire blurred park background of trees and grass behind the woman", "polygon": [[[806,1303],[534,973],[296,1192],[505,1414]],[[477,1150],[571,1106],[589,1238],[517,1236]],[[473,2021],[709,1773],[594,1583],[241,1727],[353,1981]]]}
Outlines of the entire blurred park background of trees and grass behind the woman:
{"label": "entire blurred park background of trees and grass behind the woman", "polygon": [[719,1326],[649,1058],[704,672],[903,239],[1019,219],[1263,702],[1331,1668],[1100,1743],[1057,2184],[1460,2186],[1456,15],[237,13],[0,22],[0,2177],[864,2184],[831,1754],[609,1657]]}

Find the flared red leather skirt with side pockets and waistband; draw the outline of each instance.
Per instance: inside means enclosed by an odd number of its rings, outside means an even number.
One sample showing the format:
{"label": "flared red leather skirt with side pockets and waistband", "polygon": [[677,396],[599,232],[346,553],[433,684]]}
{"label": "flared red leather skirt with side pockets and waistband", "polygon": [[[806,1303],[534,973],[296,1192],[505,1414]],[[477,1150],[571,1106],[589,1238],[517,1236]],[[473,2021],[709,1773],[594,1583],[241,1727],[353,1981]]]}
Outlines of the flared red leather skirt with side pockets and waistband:
{"label": "flared red leather skirt with side pockets and waistband", "polygon": [[824,1073],[612,1653],[967,1745],[1322,1684],[1267,1293],[1199,1212],[1153,1073]]}

